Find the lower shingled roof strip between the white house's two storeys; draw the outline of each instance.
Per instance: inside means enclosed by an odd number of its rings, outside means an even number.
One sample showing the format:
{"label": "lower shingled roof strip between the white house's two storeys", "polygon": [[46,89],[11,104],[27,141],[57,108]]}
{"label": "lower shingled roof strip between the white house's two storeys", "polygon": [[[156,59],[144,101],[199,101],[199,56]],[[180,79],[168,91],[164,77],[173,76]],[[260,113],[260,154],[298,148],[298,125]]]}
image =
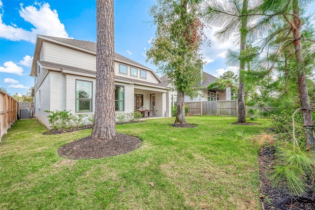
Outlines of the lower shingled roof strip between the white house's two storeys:
{"label": "lower shingled roof strip between the white house's two storeys", "polygon": [[[48,61],[38,61],[39,65],[41,65],[42,68],[48,68],[50,70],[54,70],[54,71],[60,71],[62,73],[70,73],[70,74],[78,74],[81,76],[88,76],[88,77],[94,77],[95,78],[95,71],[91,71],[91,70],[87,70],[87,69],[83,69],[83,68],[77,68],[77,67],[73,67],[73,66],[68,66],[68,65],[63,65],[63,64],[58,64],[58,63],[54,63],[54,62],[48,62]],[[123,81],[123,82],[127,82],[127,83],[132,83],[132,84],[145,84],[148,86],[154,86],[154,87],[160,87],[165,89],[166,86],[163,86],[163,83],[150,83],[150,82],[146,82],[146,81],[142,81],[142,80],[137,80],[137,79],[133,79],[133,78],[129,78],[129,77],[121,77],[121,76],[117,76],[115,75],[115,81]]]}

